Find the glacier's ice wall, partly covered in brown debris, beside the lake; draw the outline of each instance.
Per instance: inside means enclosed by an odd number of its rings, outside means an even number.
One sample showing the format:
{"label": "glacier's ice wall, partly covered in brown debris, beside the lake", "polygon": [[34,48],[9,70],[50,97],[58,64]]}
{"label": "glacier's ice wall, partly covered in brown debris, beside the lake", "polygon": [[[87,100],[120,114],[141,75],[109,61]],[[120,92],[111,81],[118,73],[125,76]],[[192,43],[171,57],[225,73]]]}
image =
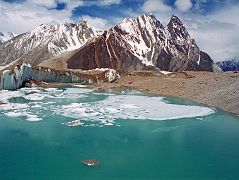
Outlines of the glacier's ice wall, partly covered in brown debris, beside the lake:
{"label": "glacier's ice wall, partly covered in brown debris, beside the lake", "polygon": [[116,70],[103,69],[98,74],[74,73],[72,71],[57,71],[44,67],[32,67],[30,64],[16,65],[12,69],[0,71],[0,90],[16,90],[27,80],[34,79],[44,82],[90,84],[98,82],[113,82],[119,75]]}

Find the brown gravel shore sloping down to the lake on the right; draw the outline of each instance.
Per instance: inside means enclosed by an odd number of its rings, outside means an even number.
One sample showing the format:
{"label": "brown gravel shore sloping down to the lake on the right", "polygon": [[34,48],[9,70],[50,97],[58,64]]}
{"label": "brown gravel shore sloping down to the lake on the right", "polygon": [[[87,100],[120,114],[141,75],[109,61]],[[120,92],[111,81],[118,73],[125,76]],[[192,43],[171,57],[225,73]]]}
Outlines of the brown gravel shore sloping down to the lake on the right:
{"label": "brown gravel shore sloping down to the lake on the right", "polygon": [[97,89],[133,88],[145,92],[188,99],[239,115],[239,73],[181,72],[162,75],[155,72],[121,74],[114,83],[87,87]]}

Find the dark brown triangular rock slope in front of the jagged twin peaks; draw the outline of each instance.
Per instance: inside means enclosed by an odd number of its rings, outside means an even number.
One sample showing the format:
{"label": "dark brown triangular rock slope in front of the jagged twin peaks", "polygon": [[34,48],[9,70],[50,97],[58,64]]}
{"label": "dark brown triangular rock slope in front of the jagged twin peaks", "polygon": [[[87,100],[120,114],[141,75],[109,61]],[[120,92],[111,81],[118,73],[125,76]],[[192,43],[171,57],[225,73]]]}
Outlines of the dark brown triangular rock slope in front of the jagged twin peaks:
{"label": "dark brown triangular rock slope in front of the jagged twin peaks", "polygon": [[[109,33],[109,34],[107,34]],[[108,37],[106,37],[108,36]],[[117,34],[105,32],[87,43],[68,61],[69,69],[111,68],[120,70],[142,69],[144,65],[118,43]]]}

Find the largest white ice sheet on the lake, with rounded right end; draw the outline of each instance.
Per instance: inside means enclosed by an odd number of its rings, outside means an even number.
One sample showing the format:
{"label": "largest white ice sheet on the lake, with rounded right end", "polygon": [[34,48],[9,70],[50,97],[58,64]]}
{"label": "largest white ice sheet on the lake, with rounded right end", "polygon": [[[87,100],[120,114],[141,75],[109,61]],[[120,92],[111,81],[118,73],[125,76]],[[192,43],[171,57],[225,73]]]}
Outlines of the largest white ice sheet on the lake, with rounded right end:
{"label": "largest white ice sheet on the lake, with rounded right end", "polygon": [[207,116],[214,112],[208,107],[168,104],[162,97],[136,95],[109,96],[94,103],[72,103],[55,111],[66,117],[96,121],[109,116],[113,119],[167,120]]}

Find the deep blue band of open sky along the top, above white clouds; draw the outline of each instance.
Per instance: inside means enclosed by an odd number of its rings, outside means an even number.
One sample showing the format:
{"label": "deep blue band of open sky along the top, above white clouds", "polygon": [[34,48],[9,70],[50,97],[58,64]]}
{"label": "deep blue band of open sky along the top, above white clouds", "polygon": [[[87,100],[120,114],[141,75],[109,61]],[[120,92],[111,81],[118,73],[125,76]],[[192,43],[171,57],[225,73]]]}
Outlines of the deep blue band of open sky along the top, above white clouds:
{"label": "deep blue band of open sky along the top, above white clouds", "polygon": [[[15,4],[27,4],[31,0],[0,0],[0,2]],[[127,11],[135,13],[144,12],[142,7],[147,2],[160,2],[166,6],[172,8],[177,13],[181,11],[183,13],[196,13],[201,15],[208,15],[220,11],[226,6],[238,5],[238,0],[32,0],[32,4],[39,6],[45,6],[49,11],[51,10],[64,10],[72,2],[79,2],[79,6],[75,6],[71,12],[71,19],[77,21],[80,17],[89,15],[92,17],[100,18],[122,18],[126,17]],[[45,2],[44,2],[45,1]],[[180,1],[183,6],[187,6],[185,2],[190,2],[185,10],[178,8],[176,1]],[[36,3],[37,2],[37,3]],[[81,3],[80,3],[81,2]],[[76,3],[77,4],[77,3]],[[180,4],[180,3],[179,3]]]}

